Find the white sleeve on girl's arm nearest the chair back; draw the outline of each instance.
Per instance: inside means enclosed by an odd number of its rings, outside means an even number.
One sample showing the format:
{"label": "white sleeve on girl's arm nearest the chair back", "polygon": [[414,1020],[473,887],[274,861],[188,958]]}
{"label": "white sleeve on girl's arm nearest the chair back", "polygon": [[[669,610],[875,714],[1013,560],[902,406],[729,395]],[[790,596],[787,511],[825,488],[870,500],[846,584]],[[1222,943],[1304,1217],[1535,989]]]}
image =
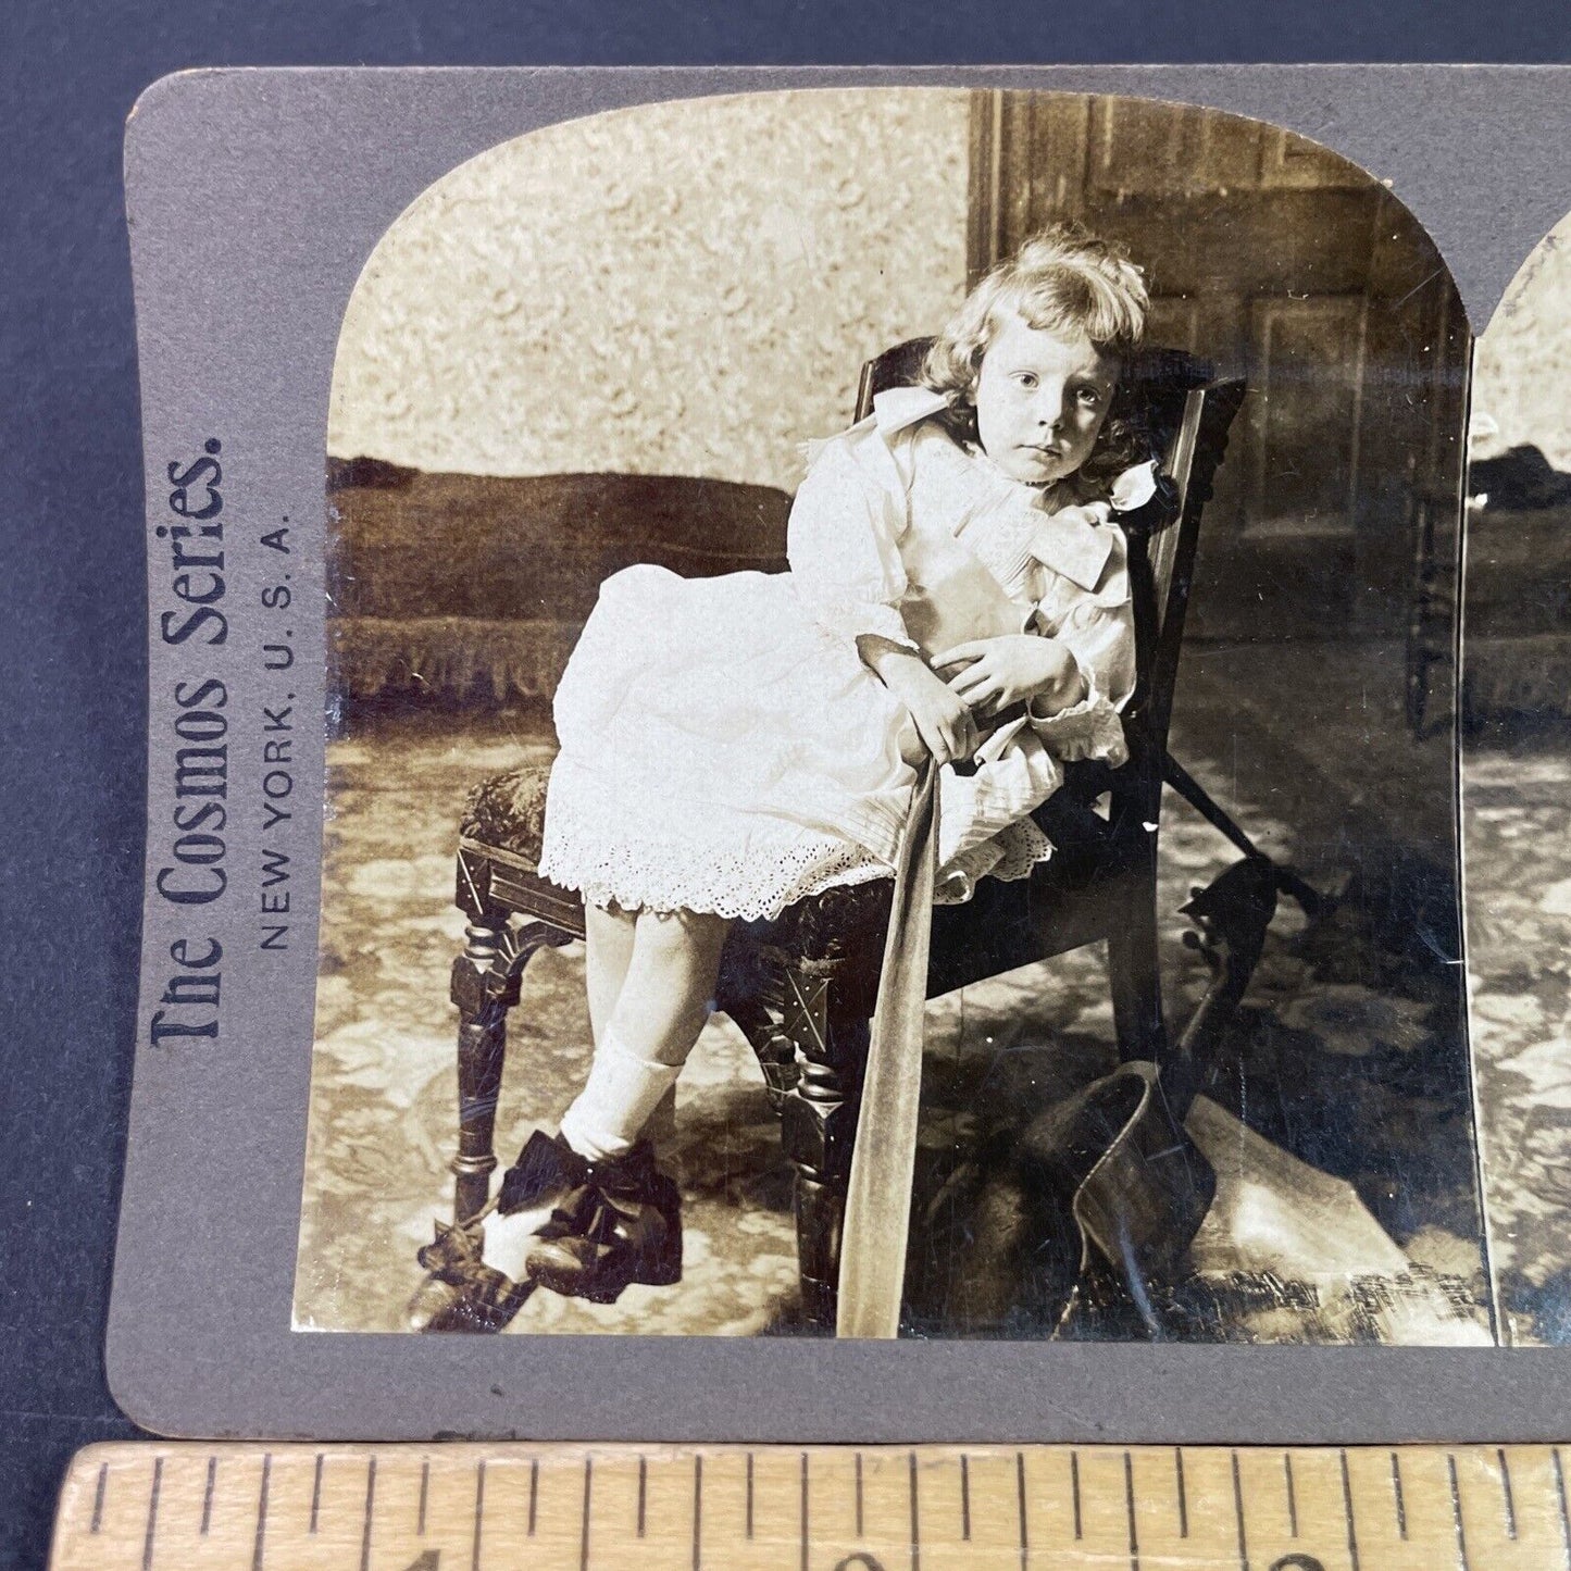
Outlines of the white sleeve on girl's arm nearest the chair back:
{"label": "white sleeve on girl's arm nearest the chair back", "polygon": [[1134,693],[1134,606],[1123,531],[1114,531],[1114,550],[1095,591],[1057,578],[1037,608],[1045,633],[1065,644],[1086,682],[1086,696],[1053,715],[1031,713],[1037,735],[1056,757],[1100,759],[1114,767],[1130,749],[1120,710]]}

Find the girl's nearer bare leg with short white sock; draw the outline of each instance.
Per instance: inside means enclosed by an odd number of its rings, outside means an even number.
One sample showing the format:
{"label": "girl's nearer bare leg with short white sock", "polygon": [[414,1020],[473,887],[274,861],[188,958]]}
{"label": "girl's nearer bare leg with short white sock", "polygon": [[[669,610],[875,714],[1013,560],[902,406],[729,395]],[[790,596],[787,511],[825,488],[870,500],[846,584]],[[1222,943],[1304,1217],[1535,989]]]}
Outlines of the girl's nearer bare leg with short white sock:
{"label": "girl's nearer bare leg with short white sock", "polygon": [[581,1156],[622,1156],[676,1084],[709,1020],[731,922],[694,911],[641,911],[611,1016],[597,1032],[589,1082],[562,1115]]}

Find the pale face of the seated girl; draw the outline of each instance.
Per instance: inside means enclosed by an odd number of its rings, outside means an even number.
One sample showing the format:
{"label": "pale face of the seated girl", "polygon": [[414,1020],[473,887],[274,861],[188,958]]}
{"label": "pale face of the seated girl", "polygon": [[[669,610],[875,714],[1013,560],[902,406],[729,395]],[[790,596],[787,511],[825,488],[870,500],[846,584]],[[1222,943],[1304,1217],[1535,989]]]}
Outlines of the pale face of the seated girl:
{"label": "pale face of the seated girl", "polygon": [[1119,363],[1089,338],[1060,338],[1010,311],[977,374],[982,451],[1010,479],[1049,485],[1090,457]]}

